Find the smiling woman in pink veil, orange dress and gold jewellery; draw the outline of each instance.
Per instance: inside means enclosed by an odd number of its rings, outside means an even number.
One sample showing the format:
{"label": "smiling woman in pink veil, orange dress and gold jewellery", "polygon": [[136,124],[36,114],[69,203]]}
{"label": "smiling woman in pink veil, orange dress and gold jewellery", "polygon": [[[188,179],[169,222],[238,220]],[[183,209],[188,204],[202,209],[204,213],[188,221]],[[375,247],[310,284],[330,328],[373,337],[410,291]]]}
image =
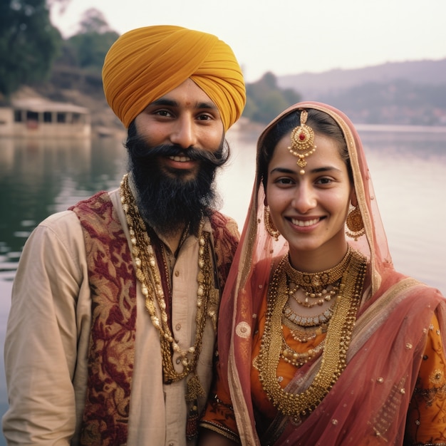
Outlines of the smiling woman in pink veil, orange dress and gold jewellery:
{"label": "smiling woman in pink veil, orange dress and gold jewellery", "polygon": [[446,445],[445,308],[393,268],[351,121],[285,110],[257,145],[200,445]]}

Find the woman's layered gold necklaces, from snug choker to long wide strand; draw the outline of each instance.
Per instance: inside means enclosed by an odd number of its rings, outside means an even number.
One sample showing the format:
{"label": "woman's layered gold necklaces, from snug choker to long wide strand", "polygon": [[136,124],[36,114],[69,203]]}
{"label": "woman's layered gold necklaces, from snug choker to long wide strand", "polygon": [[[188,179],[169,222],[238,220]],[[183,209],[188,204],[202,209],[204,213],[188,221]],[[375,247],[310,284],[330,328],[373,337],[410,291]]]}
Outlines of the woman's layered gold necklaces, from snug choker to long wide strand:
{"label": "woman's layered gold necklaces, from snug choker to long wide strand", "polygon": [[[349,248],[340,264],[321,273],[296,271],[289,264],[288,254],[281,259],[274,271],[268,290],[266,321],[256,365],[266,395],[284,415],[301,419],[311,413],[346,368],[347,350],[361,302],[366,266],[365,256]],[[306,290],[309,299],[323,299],[326,294],[331,299],[332,294],[328,289],[338,289],[326,328],[325,341],[314,349],[323,349],[320,368],[313,382],[301,393],[287,392],[281,388],[277,379],[277,367],[284,355],[289,358],[286,362],[297,366],[311,359],[311,354],[308,356],[308,353],[300,353],[298,359],[291,359],[289,353],[284,353],[282,321],[284,310],[289,308],[286,305],[290,297],[290,282]],[[325,293],[323,289],[326,290]],[[318,296],[319,293],[321,296]],[[316,355],[320,352],[311,353]]]}

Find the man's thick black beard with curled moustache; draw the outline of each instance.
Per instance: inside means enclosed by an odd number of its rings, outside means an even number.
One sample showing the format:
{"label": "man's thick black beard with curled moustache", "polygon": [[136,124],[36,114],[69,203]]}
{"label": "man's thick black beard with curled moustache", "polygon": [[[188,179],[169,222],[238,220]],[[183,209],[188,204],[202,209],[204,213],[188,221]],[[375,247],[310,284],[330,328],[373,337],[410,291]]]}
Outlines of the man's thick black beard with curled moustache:
{"label": "man's thick black beard with curled moustache", "polygon": [[[141,217],[159,234],[177,234],[190,224],[190,231],[197,234],[202,216],[217,208],[219,197],[214,188],[217,167],[229,157],[229,147],[224,139],[214,152],[190,147],[183,150],[175,145],[150,147],[138,135],[135,125],[130,125],[125,142],[129,155],[129,170],[137,192]],[[187,155],[199,160],[199,172],[192,179],[185,179],[182,170],[160,167],[160,157]],[[189,172],[187,172],[189,174]]]}

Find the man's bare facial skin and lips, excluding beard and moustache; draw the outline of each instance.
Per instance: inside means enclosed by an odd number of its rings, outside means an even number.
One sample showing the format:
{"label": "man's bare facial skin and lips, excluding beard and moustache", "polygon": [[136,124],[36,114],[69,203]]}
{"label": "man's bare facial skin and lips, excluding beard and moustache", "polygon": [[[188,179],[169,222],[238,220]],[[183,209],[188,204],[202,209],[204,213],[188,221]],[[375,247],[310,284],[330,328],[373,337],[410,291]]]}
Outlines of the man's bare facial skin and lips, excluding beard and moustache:
{"label": "man's bare facial skin and lips, excluding beard and moustache", "polygon": [[138,135],[150,147],[174,145],[178,155],[159,157],[165,175],[197,176],[199,162],[187,156],[195,148],[214,152],[222,144],[224,128],[217,106],[199,86],[187,79],[174,90],[147,105],[135,118]]}

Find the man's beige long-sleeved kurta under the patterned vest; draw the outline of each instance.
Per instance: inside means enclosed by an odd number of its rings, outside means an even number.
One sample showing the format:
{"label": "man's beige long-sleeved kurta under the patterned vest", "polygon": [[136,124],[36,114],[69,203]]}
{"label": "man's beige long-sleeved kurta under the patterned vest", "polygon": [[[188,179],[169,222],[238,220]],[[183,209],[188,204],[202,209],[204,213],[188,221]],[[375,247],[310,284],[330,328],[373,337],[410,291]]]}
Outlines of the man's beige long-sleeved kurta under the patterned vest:
{"label": "man's beige long-sleeved kurta under the patterned vest", "polygon": [[[129,239],[119,190],[110,197]],[[211,231],[209,221],[204,230]],[[182,348],[195,342],[197,258],[197,238],[188,237],[172,274],[172,329]],[[74,212],[60,212],[31,234],[14,281],[4,348],[10,407],[3,428],[9,445],[78,444],[75,431],[83,415],[90,321],[83,231]],[[139,284],[136,327],[127,445],[187,445],[186,383],[162,384],[159,334]],[[206,390],[213,349],[208,320],[197,364]]]}

